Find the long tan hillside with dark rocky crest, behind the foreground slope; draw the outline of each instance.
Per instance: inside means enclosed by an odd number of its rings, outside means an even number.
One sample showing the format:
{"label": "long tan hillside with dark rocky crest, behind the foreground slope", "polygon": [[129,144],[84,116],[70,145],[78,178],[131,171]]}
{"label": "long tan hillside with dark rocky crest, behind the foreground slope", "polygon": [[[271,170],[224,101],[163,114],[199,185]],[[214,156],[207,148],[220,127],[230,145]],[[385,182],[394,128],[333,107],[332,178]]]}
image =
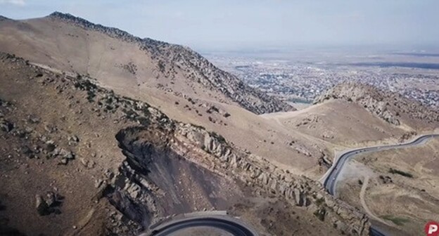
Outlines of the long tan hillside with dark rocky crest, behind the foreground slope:
{"label": "long tan hillside with dark rocky crest, behind the foreground slope", "polygon": [[332,154],[322,142],[257,115],[292,107],[242,84],[189,48],[139,39],[62,13],[2,20],[0,29],[0,51],[53,72],[82,74],[172,119],[220,133],[236,147],[294,173],[318,178],[326,171],[318,163]]}

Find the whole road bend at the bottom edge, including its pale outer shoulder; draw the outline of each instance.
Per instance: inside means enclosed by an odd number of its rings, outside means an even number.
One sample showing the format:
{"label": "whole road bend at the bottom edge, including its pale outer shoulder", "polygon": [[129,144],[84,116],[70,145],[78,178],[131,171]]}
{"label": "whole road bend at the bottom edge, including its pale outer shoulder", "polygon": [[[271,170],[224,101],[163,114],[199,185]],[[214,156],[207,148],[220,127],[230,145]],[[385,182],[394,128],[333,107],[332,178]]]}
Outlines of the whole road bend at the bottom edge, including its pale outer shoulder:
{"label": "whole road bend at the bottom edge, including its pale outer shoulder", "polygon": [[177,221],[171,221],[159,225],[151,230],[148,235],[151,236],[167,236],[177,233],[181,230],[210,227],[229,232],[234,236],[257,236],[257,232],[253,231],[247,225],[238,221],[237,218],[225,216],[193,216],[191,218],[183,218]]}

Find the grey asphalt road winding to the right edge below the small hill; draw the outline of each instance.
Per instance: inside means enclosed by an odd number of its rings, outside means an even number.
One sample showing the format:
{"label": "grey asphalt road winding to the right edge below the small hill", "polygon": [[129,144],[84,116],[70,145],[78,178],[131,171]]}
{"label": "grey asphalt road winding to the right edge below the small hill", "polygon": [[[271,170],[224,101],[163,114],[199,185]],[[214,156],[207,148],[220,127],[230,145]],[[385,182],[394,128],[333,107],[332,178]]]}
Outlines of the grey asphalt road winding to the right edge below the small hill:
{"label": "grey asphalt road winding to the right edge below the small hill", "polygon": [[[376,147],[362,147],[357,148],[355,150],[349,150],[347,152],[343,152],[338,159],[336,159],[335,164],[332,165],[331,169],[328,170],[328,172],[325,174],[326,178],[324,178],[324,188],[329,192],[331,195],[336,195],[336,188],[337,188],[337,182],[338,182],[338,175],[341,173],[341,170],[343,169],[343,166],[345,165],[345,162],[355,157],[355,155],[359,155],[360,153],[367,153],[367,152],[378,152],[383,150],[391,150],[396,148],[403,148],[403,147],[410,147],[410,146],[416,146],[424,144],[428,139],[439,137],[439,134],[428,134],[424,136],[419,136],[418,138],[412,140],[409,143],[401,143],[401,144],[395,144],[395,145],[383,145],[383,146],[376,146]],[[376,228],[371,228],[371,235],[376,236],[384,236],[382,232],[379,232]]]}

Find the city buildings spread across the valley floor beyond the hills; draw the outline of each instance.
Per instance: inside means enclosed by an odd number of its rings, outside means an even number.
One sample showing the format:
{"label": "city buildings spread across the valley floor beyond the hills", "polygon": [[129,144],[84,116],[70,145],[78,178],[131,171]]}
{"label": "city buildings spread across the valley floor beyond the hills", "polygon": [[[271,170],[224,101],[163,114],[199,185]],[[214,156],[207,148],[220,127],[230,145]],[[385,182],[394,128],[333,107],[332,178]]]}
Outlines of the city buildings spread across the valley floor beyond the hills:
{"label": "city buildings spread across the valley floor beyond the hills", "polygon": [[215,64],[257,89],[285,100],[312,103],[326,89],[343,81],[361,81],[439,108],[439,70],[406,73],[397,68],[298,63],[290,60],[210,58]]}

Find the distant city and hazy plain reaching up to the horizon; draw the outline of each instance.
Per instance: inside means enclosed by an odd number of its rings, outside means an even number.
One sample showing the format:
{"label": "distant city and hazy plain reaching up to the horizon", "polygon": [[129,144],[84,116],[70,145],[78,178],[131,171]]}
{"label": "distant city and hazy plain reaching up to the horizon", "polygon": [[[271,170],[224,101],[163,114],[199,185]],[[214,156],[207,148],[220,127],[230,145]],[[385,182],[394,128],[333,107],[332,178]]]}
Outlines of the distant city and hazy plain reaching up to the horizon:
{"label": "distant city and hazy plain reaching up to the horizon", "polygon": [[[327,58],[324,62],[315,58],[288,60],[284,55],[280,59],[274,55],[265,58],[264,55],[240,56],[236,53],[208,53],[205,56],[250,86],[290,103],[311,104],[314,98],[336,84],[361,81],[439,109],[439,64],[434,63],[439,60],[439,55],[436,54],[391,53],[372,58],[383,62],[365,62],[371,57],[357,57],[355,61],[343,59],[342,63],[340,60],[328,62]],[[388,61],[395,58],[402,62]]]}

